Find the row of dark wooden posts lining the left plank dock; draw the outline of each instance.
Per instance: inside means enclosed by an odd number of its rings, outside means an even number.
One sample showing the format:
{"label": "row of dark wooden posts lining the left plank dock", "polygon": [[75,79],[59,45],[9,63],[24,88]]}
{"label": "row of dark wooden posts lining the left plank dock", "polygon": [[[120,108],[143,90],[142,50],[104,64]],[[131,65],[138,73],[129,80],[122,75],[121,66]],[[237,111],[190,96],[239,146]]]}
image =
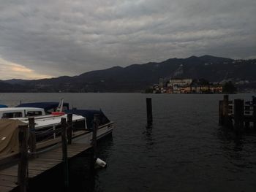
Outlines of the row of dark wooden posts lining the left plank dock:
{"label": "row of dark wooden posts lining the left plank dock", "polygon": [[[37,158],[36,134],[34,128],[34,118],[29,118],[29,126],[19,126],[19,161],[18,161],[18,185],[20,192],[25,192],[28,184],[29,158]],[[92,147],[94,158],[96,157],[97,129],[99,126],[99,115],[94,115]],[[56,130],[58,131],[58,130]],[[72,145],[72,114],[67,114],[66,118],[61,118],[61,146],[62,164],[64,169],[64,185],[69,186],[69,168],[67,158],[67,145]]]}

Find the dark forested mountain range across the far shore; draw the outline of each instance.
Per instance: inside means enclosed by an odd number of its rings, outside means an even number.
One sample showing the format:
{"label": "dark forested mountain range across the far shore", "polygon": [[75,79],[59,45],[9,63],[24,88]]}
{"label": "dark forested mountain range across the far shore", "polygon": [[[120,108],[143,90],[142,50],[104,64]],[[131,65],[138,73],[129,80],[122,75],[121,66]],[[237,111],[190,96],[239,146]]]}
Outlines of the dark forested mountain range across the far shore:
{"label": "dark forested mountain range across the far shore", "polygon": [[162,62],[86,72],[42,80],[0,80],[0,92],[141,92],[159,78],[204,78],[210,82],[256,82],[256,59],[234,60],[211,55],[170,58]]}

